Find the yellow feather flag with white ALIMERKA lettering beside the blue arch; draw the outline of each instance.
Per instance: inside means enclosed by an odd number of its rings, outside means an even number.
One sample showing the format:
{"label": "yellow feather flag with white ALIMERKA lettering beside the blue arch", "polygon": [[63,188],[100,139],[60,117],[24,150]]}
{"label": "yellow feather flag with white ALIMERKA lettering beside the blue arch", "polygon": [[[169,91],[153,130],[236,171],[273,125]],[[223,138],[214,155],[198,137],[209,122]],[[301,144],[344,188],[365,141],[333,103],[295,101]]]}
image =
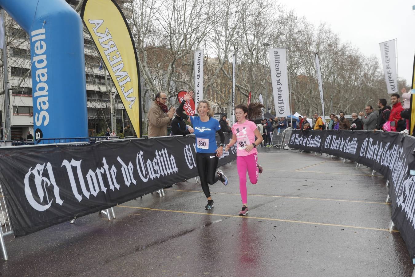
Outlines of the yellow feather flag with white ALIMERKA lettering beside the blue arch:
{"label": "yellow feather flag with white ALIMERKA lettering beside the blue arch", "polygon": [[81,18],[110,73],[137,136],[141,137],[138,58],[122,10],[115,0],[85,0]]}

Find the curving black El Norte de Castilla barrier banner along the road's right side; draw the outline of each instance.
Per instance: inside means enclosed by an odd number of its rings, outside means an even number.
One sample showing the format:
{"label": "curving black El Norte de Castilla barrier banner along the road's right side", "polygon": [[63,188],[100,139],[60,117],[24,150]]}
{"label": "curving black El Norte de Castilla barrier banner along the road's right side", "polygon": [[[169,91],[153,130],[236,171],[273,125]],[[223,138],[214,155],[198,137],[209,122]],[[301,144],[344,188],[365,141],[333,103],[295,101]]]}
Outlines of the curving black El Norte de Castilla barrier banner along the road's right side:
{"label": "curving black El Norte de Castilla barrier banner along the road's right side", "polygon": [[[322,139],[320,149],[316,139]],[[310,142],[310,143],[308,143]],[[415,138],[371,131],[294,130],[289,147],[323,152],[367,165],[389,180],[392,221],[415,258]]]}

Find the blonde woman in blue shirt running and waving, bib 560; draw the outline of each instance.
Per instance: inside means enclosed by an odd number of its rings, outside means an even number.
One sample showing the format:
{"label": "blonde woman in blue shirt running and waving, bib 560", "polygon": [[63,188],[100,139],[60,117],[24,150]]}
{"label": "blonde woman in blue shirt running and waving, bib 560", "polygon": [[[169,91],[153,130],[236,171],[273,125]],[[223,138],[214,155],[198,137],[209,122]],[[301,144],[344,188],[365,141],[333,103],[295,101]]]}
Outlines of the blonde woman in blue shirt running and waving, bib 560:
{"label": "blonde woman in blue shirt running and waving, bib 560", "polygon": [[[183,113],[183,106],[192,97],[193,91],[187,92],[176,110],[176,113],[184,120],[187,120],[189,116]],[[196,164],[200,184],[202,184],[203,192],[207,198],[205,209],[210,210],[213,207],[213,200],[210,196],[208,184],[215,184],[218,180],[225,186],[228,184],[225,174],[221,170],[216,171],[219,157],[222,156],[225,135],[220,130],[219,122],[213,118],[213,111],[208,101],[199,101],[197,110],[199,116],[190,116],[190,121],[196,137]],[[216,132],[220,136],[219,147],[216,144]]]}

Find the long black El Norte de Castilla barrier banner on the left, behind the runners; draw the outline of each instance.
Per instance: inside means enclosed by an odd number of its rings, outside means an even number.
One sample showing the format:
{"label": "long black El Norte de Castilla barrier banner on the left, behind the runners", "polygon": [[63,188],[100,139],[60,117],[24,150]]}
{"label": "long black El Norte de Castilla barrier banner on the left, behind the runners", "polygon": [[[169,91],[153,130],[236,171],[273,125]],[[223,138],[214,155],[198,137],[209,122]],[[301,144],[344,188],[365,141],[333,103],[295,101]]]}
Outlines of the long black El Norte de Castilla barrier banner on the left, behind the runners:
{"label": "long black El Norte de Castilla barrier banner on the left, behind the runners", "polygon": [[[235,146],[219,166],[234,159]],[[3,148],[0,168],[16,237],[198,176],[194,136]]]}

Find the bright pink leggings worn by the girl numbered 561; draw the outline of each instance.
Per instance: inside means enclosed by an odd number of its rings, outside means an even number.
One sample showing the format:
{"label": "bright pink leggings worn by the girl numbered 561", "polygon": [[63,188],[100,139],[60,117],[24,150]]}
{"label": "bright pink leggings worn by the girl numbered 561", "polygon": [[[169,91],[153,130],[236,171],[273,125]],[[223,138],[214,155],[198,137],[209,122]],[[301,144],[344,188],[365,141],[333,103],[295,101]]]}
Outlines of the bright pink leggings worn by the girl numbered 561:
{"label": "bright pink leggings worn by the girl numbered 561", "polygon": [[249,181],[252,184],[256,184],[258,181],[259,169],[256,167],[258,161],[258,155],[253,153],[248,156],[237,156],[236,166],[238,168],[239,175],[239,191],[241,192],[242,204],[247,202],[247,170]]}

